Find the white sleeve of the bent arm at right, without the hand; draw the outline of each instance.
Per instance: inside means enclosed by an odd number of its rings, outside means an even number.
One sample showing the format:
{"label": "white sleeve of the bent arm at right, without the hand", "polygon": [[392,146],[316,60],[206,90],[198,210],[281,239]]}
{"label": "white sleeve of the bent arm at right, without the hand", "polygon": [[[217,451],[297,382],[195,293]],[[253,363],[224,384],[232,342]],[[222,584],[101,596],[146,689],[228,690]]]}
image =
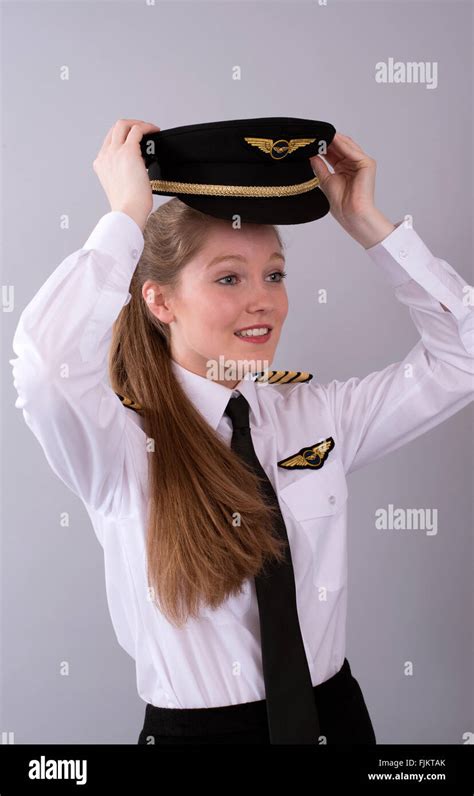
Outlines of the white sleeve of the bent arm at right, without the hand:
{"label": "white sleeve of the bent arm at right, without the hand", "polygon": [[367,253],[409,308],[420,339],[400,362],[323,385],[346,473],[424,434],[474,398],[472,287],[402,222]]}

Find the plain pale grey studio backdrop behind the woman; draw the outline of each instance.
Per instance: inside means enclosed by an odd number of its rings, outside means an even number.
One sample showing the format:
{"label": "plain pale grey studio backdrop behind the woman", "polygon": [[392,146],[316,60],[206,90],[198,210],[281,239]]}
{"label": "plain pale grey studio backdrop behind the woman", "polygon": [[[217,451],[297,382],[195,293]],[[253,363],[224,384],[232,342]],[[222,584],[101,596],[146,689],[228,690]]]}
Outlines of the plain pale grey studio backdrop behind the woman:
{"label": "plain pale grey studio backdrop behind the woman", "polygon": [[[15,743],[134,744],[145,704],[110,621],[102,549],[14,407],[19,314],[108,212],[92,161],[123,117],[331,121],[377,160],[380,210],[412,214],[472,284],[472,6],[35,2],[2,16],[2,284],[15,308],[3,314],[0,729]],[[389,57],[437,61],[438,88],[377,84]],[[403,359],[418,333],[364,249],[332,216],[281,230],[290,312],[273,366],[326,383]],[[315,312],[320,287],[330,300]],[[471,404],[349,478],[347,657],[378,743],[460,744],[474,730],[472,421]],[[437,508],[438,535],[377,531],[389,503]]]}

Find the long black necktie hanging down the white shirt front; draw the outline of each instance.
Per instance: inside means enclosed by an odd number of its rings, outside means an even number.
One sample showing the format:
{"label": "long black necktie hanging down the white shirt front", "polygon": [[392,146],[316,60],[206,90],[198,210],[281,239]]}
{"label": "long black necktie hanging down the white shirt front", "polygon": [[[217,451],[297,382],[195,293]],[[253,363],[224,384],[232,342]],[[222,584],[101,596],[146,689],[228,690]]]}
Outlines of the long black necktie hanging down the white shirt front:
{"label": "long black necktie hanging down the white shirt front", "polygon": [[265,569],[265,577],[255,578],[270,743],[317,744],[318,713],[298,620],[285,521],[253,447],[246,398],[243,395],[231,398],[225,414],[232,420],[231,448],[264,479],[265,500],[278,508],[276,530],[287,543],[285,561],[271,562]]}

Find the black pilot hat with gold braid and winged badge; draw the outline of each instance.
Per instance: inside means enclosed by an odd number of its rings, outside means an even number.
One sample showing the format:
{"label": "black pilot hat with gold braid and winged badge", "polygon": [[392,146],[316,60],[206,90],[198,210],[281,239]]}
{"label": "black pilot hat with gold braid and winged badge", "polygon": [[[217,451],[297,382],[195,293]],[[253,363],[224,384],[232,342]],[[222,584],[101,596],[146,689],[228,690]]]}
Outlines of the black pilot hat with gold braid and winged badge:
{"label": "black pilot hat with gold braid and winged badge", "polygon": [[312,119],[230,119],[146,133],[140,147],[154,194],[216,218],[303,224],[329,212],[309,158],[335,133]]}

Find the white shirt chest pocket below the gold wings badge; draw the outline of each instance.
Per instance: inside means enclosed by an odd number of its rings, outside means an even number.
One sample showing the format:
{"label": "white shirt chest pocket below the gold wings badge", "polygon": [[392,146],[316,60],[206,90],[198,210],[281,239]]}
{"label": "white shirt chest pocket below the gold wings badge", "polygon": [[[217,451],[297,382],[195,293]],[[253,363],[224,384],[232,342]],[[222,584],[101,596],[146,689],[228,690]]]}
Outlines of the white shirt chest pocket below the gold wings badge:
{"label": "white shirt chest pocket below the gold wings badge", "polygon": [[[304,473],[280,489],[279,497],[311,547],[315,586],[336,591],[347,580],[346,512],[348,489],[340,459]],[[296,539],[298,537],[296,536]],[[298,550],[293,556],[298,561]],[[324,592],[320,599],[324,600]]]}

